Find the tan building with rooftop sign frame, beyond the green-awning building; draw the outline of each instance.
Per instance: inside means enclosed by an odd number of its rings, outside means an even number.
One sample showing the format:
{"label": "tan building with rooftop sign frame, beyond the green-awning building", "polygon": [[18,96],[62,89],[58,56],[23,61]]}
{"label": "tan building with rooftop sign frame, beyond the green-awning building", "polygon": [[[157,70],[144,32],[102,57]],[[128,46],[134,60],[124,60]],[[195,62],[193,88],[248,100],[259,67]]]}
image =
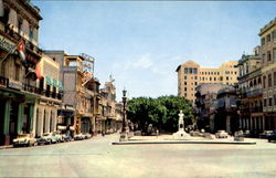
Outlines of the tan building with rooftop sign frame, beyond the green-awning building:
{"label": "tan building with rooftop sign frame, beyond the green-awning building", "polygon": [[60,78],[64,84],[63,103],[64,106],[71,106],[70,109],[61,107],[60,128],[70,129],[72,135],[95,133],[94,104],[97,87],[94,83],[97,80],[93,76],[94,59],[85,54],[68,55],[64,51],[45,51],[44,53],[60,63]]}

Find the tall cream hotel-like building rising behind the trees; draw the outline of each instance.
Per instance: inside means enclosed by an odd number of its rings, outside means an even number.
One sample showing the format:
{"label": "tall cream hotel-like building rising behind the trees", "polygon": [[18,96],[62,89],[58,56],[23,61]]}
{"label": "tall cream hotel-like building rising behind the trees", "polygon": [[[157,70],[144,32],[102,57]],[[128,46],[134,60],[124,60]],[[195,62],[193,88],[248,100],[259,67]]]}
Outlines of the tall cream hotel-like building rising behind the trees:
{"label": "tall cream hotel-like building rising behind the trees", "polygon": [[234,66],[235,61],[224,62],[217,69],[201,67],[193,61],[179,65],[178,72],[178,95],[184,96],[194,103],[195,87],[201,83],[221,83],[233,85],[237,83],[238,70]]}

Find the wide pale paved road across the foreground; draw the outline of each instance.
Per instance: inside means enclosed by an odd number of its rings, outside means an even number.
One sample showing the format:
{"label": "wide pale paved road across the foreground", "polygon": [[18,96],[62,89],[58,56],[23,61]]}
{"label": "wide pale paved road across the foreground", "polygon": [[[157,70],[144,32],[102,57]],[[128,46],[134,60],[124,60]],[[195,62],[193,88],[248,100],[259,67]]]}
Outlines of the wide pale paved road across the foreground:
{"label": "wide pale paved road across the foreground", "polygon": [[126,145],[119,135],[0,150],[0,177],[276,177],[276,144]]}

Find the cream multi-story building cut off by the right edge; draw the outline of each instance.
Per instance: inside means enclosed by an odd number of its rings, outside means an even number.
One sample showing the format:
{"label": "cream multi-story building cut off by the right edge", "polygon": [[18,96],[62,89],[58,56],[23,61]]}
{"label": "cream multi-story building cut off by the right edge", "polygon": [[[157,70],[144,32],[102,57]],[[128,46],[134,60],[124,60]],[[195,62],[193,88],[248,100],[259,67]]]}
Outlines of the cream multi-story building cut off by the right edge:
{"label": "cream multi-story building cut off by the right edge", "polygon": [[276,128],[276,19],[261,29],[263,112],[265,129]]}

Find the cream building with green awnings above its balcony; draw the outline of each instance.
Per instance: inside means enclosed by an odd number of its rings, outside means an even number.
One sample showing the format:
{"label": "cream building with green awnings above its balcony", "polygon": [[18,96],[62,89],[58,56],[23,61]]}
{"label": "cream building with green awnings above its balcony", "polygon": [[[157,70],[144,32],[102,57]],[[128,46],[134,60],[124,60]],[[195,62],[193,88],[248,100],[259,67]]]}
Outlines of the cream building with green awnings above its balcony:
{"label": "cream building with green awnings above its balcony", "polygon": [[36,87],[41,94],[34,105],[33,133],[42,136],[43,133],[56,130],[57,108],[62,104],[63,84],[60,81],[60,65],[50,56],[42,54],[38,63],[36,73],[40,80]]}

